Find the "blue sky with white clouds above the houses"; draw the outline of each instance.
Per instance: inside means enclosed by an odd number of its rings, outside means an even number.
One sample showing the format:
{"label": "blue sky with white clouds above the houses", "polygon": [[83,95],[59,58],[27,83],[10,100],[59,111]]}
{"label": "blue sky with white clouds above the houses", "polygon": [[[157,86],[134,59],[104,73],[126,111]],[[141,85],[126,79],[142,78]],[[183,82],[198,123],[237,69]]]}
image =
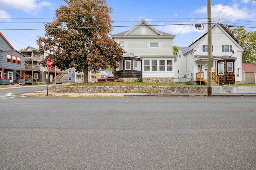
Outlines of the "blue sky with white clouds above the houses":
{"label": "blue sky with white clouds above the houses", "polygon": [[[173,45],[188,46],[207,30],[194,24],[207,23],[207,0],[106,0],[113,9],[110,17],[117,34],[130,30],[141,19],[159,31],[173,34]],[[19,50],[28,45],[38,48],[37,36],[44,35],[42,23],[52,22],[62,0],[0,0],[0,32]],[[256,1],[212,0],[212,22],[246,26],[256,31]],[[189,24],[189,25],[188,25]],[[21,30],[29,29],[29,30]]]}

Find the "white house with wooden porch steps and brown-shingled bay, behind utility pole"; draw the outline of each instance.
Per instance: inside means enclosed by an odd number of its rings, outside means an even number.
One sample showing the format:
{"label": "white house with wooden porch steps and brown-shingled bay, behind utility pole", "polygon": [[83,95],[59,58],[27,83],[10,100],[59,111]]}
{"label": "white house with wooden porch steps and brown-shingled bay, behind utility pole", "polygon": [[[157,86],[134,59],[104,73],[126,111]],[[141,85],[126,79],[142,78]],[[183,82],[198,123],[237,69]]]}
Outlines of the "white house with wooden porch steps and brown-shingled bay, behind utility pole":
{"label": "white house with wooden porch steps and brown-shingled bay, behind utility pole", "polygon": [[[202,34],[188,47],[178,47],[175,58],[175,78],[192,78],[194,84],[207,83],[208,34]],[[242,82],[242,51],[236,38],[221,24],[212,26],[212,83],[240,84]]]}

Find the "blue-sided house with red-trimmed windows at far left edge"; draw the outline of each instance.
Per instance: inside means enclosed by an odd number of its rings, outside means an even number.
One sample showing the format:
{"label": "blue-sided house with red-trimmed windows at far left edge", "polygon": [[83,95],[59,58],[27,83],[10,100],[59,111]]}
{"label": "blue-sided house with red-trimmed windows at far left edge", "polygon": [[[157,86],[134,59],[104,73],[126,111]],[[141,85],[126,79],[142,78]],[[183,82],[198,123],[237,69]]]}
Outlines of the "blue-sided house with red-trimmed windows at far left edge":
{"label": "blue-sided house with red-trimmed windows at far left edge", "polygon": [[25,55],[17,51],[0,32],[0,85],[25,83]]}

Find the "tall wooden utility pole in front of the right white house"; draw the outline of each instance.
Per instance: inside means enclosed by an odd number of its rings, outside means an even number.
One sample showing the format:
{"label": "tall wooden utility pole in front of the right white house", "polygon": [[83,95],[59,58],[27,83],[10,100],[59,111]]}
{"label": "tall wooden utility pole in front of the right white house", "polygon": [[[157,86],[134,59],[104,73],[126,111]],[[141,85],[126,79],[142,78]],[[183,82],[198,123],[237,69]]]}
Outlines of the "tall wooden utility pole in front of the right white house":
{"label": "tall wooden utility pole in front of the right white house", "polygon": [[212,10],[211,0],[207,0],[207,18],[208,18],[208,67],[207,67],[207,95],[212,96]]}

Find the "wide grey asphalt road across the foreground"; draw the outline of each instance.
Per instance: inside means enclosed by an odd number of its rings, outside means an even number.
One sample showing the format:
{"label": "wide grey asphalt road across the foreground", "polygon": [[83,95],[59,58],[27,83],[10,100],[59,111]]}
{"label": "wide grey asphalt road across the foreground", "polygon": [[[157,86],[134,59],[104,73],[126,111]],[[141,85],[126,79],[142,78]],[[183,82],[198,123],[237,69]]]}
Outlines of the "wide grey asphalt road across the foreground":
{"label": "wide grey asphalt road across the foreground", "polygon": [[0,102],[0,169],[256,169],[255,97]]}

